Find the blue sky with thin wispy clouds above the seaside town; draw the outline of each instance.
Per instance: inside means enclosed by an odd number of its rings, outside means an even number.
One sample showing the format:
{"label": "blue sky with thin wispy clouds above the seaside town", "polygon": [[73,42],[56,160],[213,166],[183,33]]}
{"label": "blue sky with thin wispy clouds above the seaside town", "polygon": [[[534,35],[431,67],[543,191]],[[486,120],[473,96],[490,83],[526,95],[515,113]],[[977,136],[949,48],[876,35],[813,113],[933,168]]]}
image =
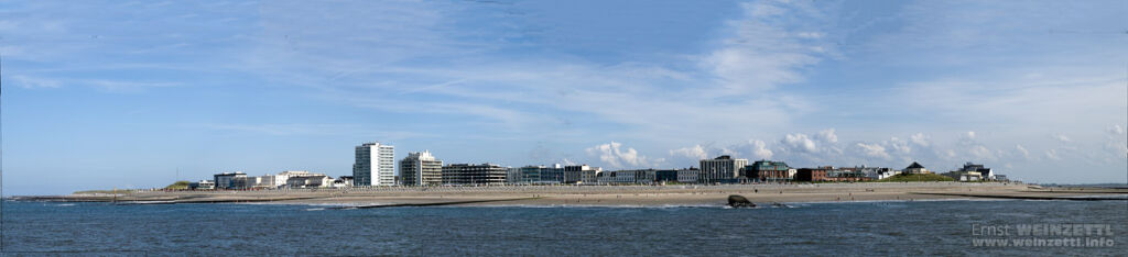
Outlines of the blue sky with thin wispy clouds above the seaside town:
{"label": "blue sky with thin wispy clouds above the seaside town", "polygon": [[0,0],[3,194],[733,155],[1128,182],[1128,1]]}

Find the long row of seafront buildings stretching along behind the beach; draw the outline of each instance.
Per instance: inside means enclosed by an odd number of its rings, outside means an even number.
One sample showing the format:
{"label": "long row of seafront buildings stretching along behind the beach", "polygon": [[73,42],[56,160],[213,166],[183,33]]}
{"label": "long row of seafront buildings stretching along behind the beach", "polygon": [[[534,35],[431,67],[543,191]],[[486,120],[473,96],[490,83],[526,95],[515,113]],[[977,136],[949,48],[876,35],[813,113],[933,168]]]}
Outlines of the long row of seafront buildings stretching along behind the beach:
{"label": "long row of seafront buildings stretching along behind the beach", "polygon": [[[441,185],[532,185],[532,184],[746,184],[794,182],[866,182],[905,174],[932,174],[924,165],[913,162],[904,169],[889,167],[791,167],[784,162],[748,159],[721,155],[699,160],[698,167],[603,171],[582,165],[501,166],[492,163],[448,164],[430,150],[409,152],[390,165],[395,146],[364,143],[355,147],[353,175],[332,176],[307,171],[284,171],[276,175],[247,176],[244,172],[224,172],[212,181],[190,184],[191,189],[279,189],[279,187],[345,187],[345,186],[441,186]],[[374,153],[374,154],[373,154]],[[398,171],[396,169],[398,167]],[[963,167],[942,174],[955,181],[1002,180],[982,164],[968,162]]]}

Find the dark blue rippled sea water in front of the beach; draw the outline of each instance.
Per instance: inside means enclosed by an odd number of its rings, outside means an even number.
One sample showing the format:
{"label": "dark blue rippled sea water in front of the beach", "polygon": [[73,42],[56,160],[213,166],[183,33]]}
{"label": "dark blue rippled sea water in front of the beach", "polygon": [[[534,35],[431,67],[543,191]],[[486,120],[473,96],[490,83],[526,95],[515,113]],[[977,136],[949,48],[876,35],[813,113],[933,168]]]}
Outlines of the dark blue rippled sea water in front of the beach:
{"label": "dark blue rippled sea water in front of the beach", "polygon": [[[1116,245],[984,247],[972,242],[985,238],[977,236],[972,226],[1045,223],[1109,224],[1113,235],[1102,238]],[[7,201],[2,228],[2,250],[8,254],[1128,255],[1128,201],[363,210]]]}

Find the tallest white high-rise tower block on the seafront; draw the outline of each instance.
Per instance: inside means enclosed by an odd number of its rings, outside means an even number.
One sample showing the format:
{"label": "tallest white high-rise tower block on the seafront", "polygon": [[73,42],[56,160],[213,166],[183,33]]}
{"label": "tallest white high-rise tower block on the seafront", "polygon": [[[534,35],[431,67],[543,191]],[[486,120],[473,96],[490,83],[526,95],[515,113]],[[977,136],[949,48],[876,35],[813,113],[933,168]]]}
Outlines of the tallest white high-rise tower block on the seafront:
{"label": "tallest white high-rise tower block on the seafront", "polygon": [[380,143],[364,143],[356,146],[353,163],[353,185],[395,185],[396,147]]}

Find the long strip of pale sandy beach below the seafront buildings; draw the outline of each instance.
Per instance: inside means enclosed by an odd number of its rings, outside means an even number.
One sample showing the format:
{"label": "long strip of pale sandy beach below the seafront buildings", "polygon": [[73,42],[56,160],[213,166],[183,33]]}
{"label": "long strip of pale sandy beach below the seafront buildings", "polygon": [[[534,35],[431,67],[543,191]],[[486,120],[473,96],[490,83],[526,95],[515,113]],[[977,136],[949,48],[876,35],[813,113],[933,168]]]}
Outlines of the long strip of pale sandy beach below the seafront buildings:
{"label": "long strip of pale sandy beach below the seafront buildings", "polygon": [[955,199],[1085,199],[1128,195],[1128,189],[1040,187],[1016,183],[830,183],[755,185],[587,185],[302,189],[259,191],[139,191],[127,194],[37,196],[38,201],[113,201],[118,203],[270,203],[326,205],[724,205],[738,194],[756,203],[919,201]]}

